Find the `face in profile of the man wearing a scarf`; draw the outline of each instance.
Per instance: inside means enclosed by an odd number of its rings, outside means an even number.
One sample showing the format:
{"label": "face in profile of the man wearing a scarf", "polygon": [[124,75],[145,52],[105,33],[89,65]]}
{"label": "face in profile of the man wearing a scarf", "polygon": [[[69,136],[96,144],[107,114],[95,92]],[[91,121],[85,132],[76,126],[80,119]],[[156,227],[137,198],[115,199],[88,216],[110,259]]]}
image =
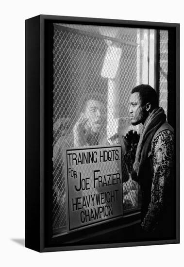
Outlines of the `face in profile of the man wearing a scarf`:
{"label": "face in profile of the man wearing a scarf", "polygon": [[147,113],[145,106],[141,104],[138,92],[131,94],[129,115],[132,125],[144,123],[145,121]]}

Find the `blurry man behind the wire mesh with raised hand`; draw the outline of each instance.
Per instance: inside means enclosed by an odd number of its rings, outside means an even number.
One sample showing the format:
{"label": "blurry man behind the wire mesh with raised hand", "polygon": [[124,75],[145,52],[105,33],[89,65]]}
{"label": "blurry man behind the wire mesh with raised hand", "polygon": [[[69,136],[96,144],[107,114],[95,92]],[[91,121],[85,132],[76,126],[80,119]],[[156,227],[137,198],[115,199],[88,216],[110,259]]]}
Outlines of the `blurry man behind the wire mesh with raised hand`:
{"label": "blurry man behind the wire mesh with raised hand", "polygon": [[[64,177],[64,159],[65,147],[89,147],[96,145],[105,145],[106,139],[100,138],[101,129],[101,103],[97,98],[88,98],[84,101],[83,110],[76,121],[73,132],[62,135],[53,147],[53,176],[55,184],[53,185],[57,202],[55,210],[59,210],[58,206],[65,210],[66,190]],[[72,120],[72,118],[71,118]],[[68,138],[69,137],[69,138]],[[68,141],[69,140],[69,141]],[[88,191],[92,193],[92,191]]]}

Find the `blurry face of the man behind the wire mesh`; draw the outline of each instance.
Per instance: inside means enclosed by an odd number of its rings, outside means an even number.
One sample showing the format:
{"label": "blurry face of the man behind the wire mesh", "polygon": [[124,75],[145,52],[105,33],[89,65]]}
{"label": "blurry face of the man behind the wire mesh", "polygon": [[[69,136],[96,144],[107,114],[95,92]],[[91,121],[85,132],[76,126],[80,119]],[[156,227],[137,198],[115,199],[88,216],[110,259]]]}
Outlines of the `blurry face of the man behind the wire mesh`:
{"label": "blurry face of the man behind the wire mesh", "polygon": [[92,132],[97,133],[100,129],[100,102],[97,100],[88,100],[84,112],[85,117],[88,119],[86,126]]}

